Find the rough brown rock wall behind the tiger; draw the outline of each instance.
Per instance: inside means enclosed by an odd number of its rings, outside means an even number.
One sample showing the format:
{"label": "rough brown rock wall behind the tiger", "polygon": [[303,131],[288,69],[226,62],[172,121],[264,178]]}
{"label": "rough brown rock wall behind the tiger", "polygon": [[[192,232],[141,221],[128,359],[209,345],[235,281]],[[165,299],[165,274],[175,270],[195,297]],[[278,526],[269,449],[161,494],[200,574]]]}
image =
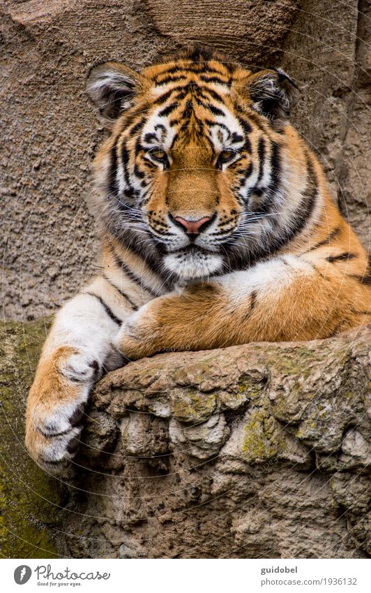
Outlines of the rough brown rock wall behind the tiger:
{"label": "rough brown rock wall behind the tiger", "polygon": [[294,121],[368,244],[369,0],[8,0],[0,10],[8,319],[47,314],[94,270],[84,196],[103,130],[84,94],[90,66],[114,58],[139,69],[190,41],[294,76]]}

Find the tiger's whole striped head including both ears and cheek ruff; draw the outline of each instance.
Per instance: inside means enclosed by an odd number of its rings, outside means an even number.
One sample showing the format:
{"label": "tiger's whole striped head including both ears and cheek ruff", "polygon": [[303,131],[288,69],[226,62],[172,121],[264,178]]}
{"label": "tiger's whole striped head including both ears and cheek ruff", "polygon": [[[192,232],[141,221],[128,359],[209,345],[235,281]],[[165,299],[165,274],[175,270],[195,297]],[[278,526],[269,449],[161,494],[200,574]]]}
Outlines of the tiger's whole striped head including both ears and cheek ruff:
{"label": "tiger's whole striped head including both ears and cheek ruff", "polygon": [[96,216],[179,279],[271,249],[299,199],[284,204],[298,177],[287,164],[295,91],[283,71],[197,48],[141,73],[96,66],[87,92],[111,131],[95,159]]}

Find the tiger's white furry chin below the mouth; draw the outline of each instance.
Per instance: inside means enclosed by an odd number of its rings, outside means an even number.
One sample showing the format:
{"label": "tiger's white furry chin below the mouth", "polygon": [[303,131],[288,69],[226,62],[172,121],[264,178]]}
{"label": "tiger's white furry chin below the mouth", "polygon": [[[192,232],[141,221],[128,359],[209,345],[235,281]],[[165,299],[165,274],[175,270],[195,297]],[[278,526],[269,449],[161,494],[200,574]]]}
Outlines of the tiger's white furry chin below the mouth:
{"label": "tiger's white furry chin below the mouth", "polygon": [[178,251],[167,254],[164,264],[167,270],[176,274],[181,280],[202,279],[212,276],[222,268],[222,256],[207,253],[199,249]]}

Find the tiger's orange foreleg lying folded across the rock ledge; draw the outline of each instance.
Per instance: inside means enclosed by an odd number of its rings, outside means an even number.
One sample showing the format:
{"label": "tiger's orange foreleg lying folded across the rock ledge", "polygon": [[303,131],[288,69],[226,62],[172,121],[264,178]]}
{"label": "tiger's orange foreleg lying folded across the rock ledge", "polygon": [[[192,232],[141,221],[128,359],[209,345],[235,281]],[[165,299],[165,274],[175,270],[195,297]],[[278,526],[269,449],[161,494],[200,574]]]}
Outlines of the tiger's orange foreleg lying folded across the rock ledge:
{"label": "tiger's orange foreleg lying folded across the rock ledge", "polygon": [[285,255],[156,298],[123,325],[119,348],[134,359],[329,337],[367,319],[370,297],[352,277],[354,261]]}

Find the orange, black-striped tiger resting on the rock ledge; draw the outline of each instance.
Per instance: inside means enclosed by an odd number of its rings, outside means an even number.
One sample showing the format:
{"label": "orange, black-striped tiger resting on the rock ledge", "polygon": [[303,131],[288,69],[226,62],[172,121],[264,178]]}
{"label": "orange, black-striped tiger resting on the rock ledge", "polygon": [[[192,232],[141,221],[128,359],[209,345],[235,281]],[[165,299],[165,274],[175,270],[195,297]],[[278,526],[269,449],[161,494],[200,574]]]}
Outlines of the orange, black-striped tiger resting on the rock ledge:
{"label": "orange, black-striped tiger resting on the rock ledge", "polygon": [[98,64],[86,92],[108,132],[89,198],[99,272],[57,312],[27,401],[28,451],[54,473],[109,370],[370,319],[367,252],[290,123],[285,71],[191,47],[140,72]]}

